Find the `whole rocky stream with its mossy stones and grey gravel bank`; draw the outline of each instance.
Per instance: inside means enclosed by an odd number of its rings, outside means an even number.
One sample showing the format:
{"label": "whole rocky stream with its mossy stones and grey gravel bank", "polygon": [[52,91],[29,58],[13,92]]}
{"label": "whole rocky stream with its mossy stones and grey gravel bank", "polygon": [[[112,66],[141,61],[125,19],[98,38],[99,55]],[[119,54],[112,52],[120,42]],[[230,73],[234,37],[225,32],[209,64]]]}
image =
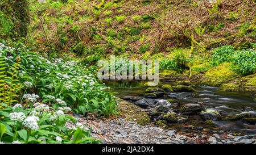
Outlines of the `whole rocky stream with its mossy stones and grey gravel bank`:
{"label": "whole rocky stream with its mossy stones and grey gravel bank", "polygon": [[188,81],[125,86],[114,89],[123,99],[121,118],[93,120],[105,124],[97,128],[105,136],[94,135],[105,143],[255,143],[256,103],[249,94]]}

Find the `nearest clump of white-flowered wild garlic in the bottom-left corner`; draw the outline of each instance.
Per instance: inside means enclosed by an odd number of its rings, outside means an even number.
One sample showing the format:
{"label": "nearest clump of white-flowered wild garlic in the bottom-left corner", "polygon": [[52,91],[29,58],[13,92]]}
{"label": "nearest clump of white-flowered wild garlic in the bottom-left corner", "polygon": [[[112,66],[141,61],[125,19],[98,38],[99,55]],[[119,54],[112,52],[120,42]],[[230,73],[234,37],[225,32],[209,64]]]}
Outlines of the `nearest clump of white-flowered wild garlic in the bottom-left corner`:
{"label": "nearest clump of white-flowered wild garlic in the bottom-left corner", "polygon": [[[90,130],[85,130],[83,125],[77,123],[72,116],[59,110],[50,110],[46,104],[31,103],[30,105],[31,107],[25,108],[22,104],[17,104],[16,107],[4,104],[5,109],[0,111],[2,143],[101,143],[100,140],[90,137]],[[71,128],[65,126],[68,122]]]}

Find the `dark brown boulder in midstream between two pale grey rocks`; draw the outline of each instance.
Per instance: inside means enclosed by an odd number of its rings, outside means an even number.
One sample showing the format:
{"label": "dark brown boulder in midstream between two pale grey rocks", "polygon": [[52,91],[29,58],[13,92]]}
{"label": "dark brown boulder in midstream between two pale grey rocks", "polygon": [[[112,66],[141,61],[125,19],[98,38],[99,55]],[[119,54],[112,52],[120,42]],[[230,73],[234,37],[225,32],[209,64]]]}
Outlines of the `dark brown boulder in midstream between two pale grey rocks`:
{"label": "dark brown boulder in midstream between two pale grey rocks", "polygon": [[180,111],[182,114],[186,115],[196,115],[199,112],[203,111],[203,108],[200,106],[200,104],[185,104],[180,108]]}

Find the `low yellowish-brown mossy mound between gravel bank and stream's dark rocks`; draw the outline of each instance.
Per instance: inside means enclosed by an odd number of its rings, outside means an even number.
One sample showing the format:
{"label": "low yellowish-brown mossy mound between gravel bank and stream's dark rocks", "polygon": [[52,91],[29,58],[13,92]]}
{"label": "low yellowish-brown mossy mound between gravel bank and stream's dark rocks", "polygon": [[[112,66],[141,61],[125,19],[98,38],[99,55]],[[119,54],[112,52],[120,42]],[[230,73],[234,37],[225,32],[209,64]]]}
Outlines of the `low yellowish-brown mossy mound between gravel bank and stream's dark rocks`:
{"label": "low yellowish-brown mossy mound between gravel bank and stream's dark rocks", "polygon": [[137,122],[141,125],[150,124],[150,118],[141,107],[125,100],[118,100],[118,114],[127,121]]}

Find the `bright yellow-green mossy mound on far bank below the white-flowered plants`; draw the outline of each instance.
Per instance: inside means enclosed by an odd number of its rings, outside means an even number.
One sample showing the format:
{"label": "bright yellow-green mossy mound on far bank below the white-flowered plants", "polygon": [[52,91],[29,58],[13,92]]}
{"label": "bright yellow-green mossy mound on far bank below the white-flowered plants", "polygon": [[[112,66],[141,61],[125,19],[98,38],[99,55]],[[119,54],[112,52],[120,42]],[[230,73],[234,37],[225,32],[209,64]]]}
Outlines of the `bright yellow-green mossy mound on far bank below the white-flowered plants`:
{"label": "bright yellow-green mossy mound on far bank below the white-flowered plants", "polygon": [[228,83],[237,77],[240,77],[239,74],[230,69],[230,63],[225,62],[219,66],[209,69],[201,78],[201,81],[204,85],[220,86],[221,84]]}

